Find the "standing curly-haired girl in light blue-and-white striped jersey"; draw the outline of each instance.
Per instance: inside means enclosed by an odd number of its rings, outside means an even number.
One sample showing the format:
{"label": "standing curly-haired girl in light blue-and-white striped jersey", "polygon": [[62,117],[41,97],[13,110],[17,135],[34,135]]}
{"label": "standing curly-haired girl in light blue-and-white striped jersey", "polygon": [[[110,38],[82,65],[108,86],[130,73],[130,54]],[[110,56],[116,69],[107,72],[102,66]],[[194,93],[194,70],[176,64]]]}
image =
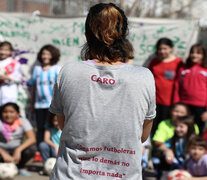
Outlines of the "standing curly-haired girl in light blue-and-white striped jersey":
{"label": "standing curly-haired girl in light blue-and-white striped jersey", "polygon": [[52,45],[43,46],[37,60],[40,65],[34,67],[30,81],[31,107],[35,109],[37,123],[37,145],[43,141],[44,126],[48,118],[48,108],[51,103],[53,86],[59,67],[56,65],[60,58],[59,50]]}

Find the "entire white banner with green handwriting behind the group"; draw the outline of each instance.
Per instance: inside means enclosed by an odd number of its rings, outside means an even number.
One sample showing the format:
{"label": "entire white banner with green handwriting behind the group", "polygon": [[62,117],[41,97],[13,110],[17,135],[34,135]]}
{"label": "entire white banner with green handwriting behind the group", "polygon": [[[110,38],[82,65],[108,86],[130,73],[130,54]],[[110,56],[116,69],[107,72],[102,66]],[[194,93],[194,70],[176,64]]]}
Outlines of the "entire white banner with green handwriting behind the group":
{"label": "entire white banner with green handwriting behind the group", "polygon": [[[22,64],[26,80],[31,76],[36,56],[45,44],[53,44],[61,51],[60,65],[81,60],[80,50],[85,43],[85,18],[45,18],[28,14],[0,13],[0,41],[10,41],[14,56]],[[147,64],[161,37],[169,37],[175,44],[175,54],[181,58],[196,41],[196,21],[152,20],[129,18],[129,39],[135,50],[135,63]],[[20,88],[19,101],[28,102],[25,88]]]}

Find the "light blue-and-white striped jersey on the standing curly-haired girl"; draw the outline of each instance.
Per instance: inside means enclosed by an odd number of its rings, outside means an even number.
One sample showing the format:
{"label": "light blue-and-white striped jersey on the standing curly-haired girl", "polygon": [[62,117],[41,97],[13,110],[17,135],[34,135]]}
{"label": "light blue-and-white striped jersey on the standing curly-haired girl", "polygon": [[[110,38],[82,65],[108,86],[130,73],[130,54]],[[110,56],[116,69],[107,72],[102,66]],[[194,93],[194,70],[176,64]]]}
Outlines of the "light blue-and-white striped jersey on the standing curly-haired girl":
{"label": "light blue-and-white striped jersey on the standing curly-haired girl", "polygon": [[35,86],[35,109],[49,108],[59,70],[57,65],[51,66],[48,70],[43,70],[40,65],[34,67],[29,84]]}

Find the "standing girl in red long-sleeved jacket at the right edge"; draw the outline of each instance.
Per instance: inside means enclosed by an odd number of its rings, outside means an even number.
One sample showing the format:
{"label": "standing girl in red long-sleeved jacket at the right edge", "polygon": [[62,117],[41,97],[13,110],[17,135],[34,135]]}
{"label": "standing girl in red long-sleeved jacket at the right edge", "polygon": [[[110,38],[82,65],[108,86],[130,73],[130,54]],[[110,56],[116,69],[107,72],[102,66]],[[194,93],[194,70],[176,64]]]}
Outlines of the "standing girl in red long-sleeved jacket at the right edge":
{"label": "standing girl in red long-sleeved jacket at the right edge", "polygon": [[207,59],[206,51],[201,44],[191,47],[186,65],[181,67],[176,78],[174,102],[188,104],[195,122],[203,133],[202,114],[207,107]]}

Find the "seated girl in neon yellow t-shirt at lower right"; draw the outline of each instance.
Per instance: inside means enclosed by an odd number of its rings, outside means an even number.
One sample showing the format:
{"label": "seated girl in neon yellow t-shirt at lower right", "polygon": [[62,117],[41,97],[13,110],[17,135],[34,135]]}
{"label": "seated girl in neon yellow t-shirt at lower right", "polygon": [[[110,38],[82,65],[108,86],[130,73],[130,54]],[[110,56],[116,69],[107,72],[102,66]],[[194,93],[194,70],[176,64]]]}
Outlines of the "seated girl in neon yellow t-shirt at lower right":
{"label": "seated girl in neon yellow t-shirt at lower right", "polygon": [[[169,170],[170,166],[165,162],[165,154],[168,150],[165,142],[174,136],[175,124],[178,117],[191,114],[188,105],[183,103],[173,104],[170,110],[170,118],[159,123],[152,137],[152,163],[155,168],[156,177],[160,179],[162,172]],[[198,125],[194,124],[196,134],[199,134]]]}

